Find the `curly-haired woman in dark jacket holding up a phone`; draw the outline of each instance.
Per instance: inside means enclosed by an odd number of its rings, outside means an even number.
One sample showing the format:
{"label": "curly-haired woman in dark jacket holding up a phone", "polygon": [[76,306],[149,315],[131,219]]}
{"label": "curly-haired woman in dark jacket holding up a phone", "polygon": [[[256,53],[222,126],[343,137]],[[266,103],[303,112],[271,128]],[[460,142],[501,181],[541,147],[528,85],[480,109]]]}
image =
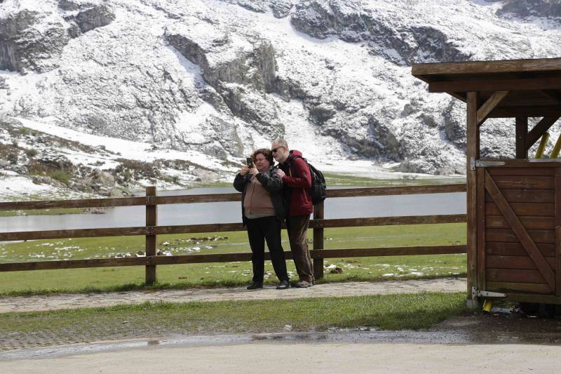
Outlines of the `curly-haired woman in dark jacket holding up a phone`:
{"label": "curly-haired woman in dark jacket holding up a phone", "polygon": [[251,157],[254,167],[243,166],[234,179],[234,188],[242,193],[242,220],[248,228],[252,251],[253,279],[248,290],[263,288],[265,241],[280,281],[277,289],[283,290],[289,284],[285,253],[280,243],[280,225],[286,215],[283,180],[276,175],[276,167],[272,166],[270,149],[257,149]]}

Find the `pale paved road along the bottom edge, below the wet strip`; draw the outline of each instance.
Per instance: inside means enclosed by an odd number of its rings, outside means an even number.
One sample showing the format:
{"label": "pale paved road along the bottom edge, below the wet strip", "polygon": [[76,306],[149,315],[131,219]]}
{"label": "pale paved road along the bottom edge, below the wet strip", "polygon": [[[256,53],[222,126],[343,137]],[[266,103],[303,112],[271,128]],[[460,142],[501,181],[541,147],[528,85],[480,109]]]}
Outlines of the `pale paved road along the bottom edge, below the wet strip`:
{"label": "pale paved road along the bottom edge, below the wet strip", "polygon": [[4,373],[559,373],[560,346],[274,343],[148,346],[0,361]]}

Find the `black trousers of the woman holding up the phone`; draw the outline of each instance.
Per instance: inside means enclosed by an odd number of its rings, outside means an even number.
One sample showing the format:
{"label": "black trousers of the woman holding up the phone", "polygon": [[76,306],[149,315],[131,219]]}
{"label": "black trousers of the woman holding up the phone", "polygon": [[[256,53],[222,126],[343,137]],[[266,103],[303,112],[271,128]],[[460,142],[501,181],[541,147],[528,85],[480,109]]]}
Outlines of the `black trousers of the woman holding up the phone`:
{"label": "black trousers of the woman holding up the phone", "polygon": [[263,282],[265,272],[265,241],[271,254],[273,269],[279,281],[288,280],[285,253],[280,244],[280,221],[275,216],[245,220],[252,251],[253,281]]}

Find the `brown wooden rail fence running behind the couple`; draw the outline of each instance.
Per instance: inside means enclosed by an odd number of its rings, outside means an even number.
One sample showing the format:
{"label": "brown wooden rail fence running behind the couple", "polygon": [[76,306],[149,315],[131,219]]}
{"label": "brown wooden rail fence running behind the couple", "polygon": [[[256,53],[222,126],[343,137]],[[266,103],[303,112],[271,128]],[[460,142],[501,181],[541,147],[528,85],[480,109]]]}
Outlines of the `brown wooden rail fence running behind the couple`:
{"label": "brown wooden rail fence running behind the couple", "polygon": [[[457,185],[427,185],[405,187],[372,187],[328,189],[327,198],[357,197],[357,196],[388,196],[403,194],[442,194],[449,192],[466,192],[465,184]],[[156,237],[161,234],[187,234],[196,232],[232,232],[243,231],[241,223],[217,223],[210,225],[174,225],[158,226],[158,205],[208,203],[240,201],[241,194],[204,194],[181,196],[157,196],[155,187],[147,187],[146,196],[110,198],[110,199],[78,199],[60,201],[15,201],[0,203],[0,211],[16,211],[28,209],[48,208],[90,208],[111,206],[146,206],[146,225],[140,227],[113,227],[94,229],[65,229],[31,232],[0,232],[0,241],[21,241],[35,239],[83,238],[97,236],[146,236],[146,257],[139,258],[102,258],[90,260],[54,260],[33,262],[0,263],[0,272],[15,272],[22,270],[45,269],[74,269],[84,267],[116,267],[143,265],[146,267],[146,283],[156,281],[157,265],[189,264],[201,262],[231,262],[251,260],[251,253],[223,253],[212,255],[157,255]],[[376,207],[372,206],[372,210]],[[323,249],[323,230],[330,227],[363,227],[385,225],[419,225],[434,223],[466,222],[465,214],[455,215],[413,215],[402,217],[379,218],[342,218],[325,220],[323,218],[323,203],[314,206],[313,220],[313,271],[316,278],[323,276],[324,258],[349,258],[389,255],[435,255],[448,253],[466,253],[467,247],[461,246],[412,246],[393,248],[340,248]],[[290,252],[285,253],[288,259]],[[269,254],[266,253],[269,260]]]}

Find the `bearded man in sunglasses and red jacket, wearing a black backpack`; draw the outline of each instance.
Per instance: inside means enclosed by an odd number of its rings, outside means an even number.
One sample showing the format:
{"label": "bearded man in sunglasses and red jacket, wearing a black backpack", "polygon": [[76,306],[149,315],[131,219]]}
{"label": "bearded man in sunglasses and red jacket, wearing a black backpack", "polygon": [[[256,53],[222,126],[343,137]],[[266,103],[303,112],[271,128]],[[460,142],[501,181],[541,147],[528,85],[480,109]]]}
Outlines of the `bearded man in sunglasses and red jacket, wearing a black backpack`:
{"label": "bearded man in sunglasses and red jacket, wearing a black backpack", "polygon": [[306,288],[313,284],[313,267],[311,262],[306,234],[310,223],[313,204],[309,189],[311,187],[310,168],[302,159],[302,153],[294,149],[288,150],[284,139],[277,139],[271,145],[271,153],[279,163],[277,171],[283,178],[285,196],[288,203],[288,217],[286,228],[290,240],[290,251],[298,273],[298,281],[292,282],[292,287]]}

